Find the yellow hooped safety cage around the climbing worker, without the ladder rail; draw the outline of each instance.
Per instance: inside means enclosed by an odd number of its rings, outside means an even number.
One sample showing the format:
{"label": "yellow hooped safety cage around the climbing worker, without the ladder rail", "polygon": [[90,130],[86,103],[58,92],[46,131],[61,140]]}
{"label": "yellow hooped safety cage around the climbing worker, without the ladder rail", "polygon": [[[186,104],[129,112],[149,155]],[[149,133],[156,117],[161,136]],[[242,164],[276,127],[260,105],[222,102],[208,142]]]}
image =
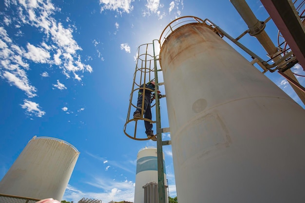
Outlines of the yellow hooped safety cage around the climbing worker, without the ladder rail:
{"label": "yellow hooped safety cage around the climbing worker, without the ladder rail", "polygon": [[[142,107],[141,107],[141,118],[134,119],[133,118],[133,112],[137,108],[137,100],[139,91],[142,90],[142,95],[145,95],[146,91],[155,92],[155,95],[157,95],[158,86],[155,85],[155,90],[152,90],[150,88],[147,88],[143,84],[148,84],[149,82],[153,81],[155,79],[155,60],[156,56],[154,54],[154,44],[148,43],[148,44],[142,44],[137,49],[136,54],[136,62],[135,62],[135,71],[133,74],[133,86],[132,91],[129,97],[129,108],[127,113],[127,119],[126,123],[124,125],[124,133],[128,137],[134,139],[134,140],[149,140],[151,138],[147,138],[145,134],[145,128],[144,128],[144,121],[148,121],[151,123],[156,123],[155,120],[150,120],[147,118],[144,118],[144,99],[145,96],[142,96]],[[157,83],[157,81],[156,81]],[[143,85],[143,87],[141,87]],[[151,108],[155,107],[155,103],[151,104]],[[154,111],[152,110],[152,117],[154,117]],[[138,127],[138,122],[140,122],[140,127]],[[153,126],[153,129],[155,129],[155,126]],[[154,130],[156,131],[156,130]],[[137,136],[140,135],[140,136]]]}

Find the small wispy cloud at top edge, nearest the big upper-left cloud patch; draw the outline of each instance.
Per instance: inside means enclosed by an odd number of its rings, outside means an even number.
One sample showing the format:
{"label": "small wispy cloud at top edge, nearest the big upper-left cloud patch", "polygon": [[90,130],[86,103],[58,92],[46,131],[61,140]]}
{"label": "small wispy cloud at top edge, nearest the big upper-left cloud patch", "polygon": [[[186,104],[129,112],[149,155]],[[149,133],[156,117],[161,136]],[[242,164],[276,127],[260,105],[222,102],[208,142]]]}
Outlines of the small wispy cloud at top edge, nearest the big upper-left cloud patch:
{"label": "small wispy cloud at top edge, nearest the big upper-left cloud patch", "polygon": [[133,0],[99,0],[101,5],[101,12],[104,10],[113,10],[121,13],[129,13],[133,10],[131,2]]}

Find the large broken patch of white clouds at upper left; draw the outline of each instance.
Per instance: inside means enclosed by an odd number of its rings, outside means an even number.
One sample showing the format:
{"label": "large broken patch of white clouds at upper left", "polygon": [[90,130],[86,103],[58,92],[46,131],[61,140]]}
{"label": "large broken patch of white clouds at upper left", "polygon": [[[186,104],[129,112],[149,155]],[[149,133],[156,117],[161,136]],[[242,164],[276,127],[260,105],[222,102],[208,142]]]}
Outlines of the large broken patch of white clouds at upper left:
{"label": "large broken patch of white clouds at upper left", "polygon": [[[4,6],[1,13],[4,23],[3,27],[0,27],[0,77],[6,78],[11,85],[24,91],[28,97],[34,97],[37,95],[37,90],[31,85],[27,76],[31,62],[48,63],[51,67],[61,65],[58,72],[67,75],[68,78],[72,74],[77,80],[81,79],[80,74],[84,71],[92,73],[92,67],[84,64],[80,55],[76,54],[81,48],[73,37],[75,26],[63,26],[52,17],[60,9],[50,0],[13,0],[4,3]],[[9,10],[16,10],[15,15],[6,13]],[[12,24],[15,28],[28,26],[30,29],[28,33],[39,32],[43,35],[41,38],[33,39],[33,43],[31,38],[26,36],[27,33],[21,33],[20,29],[16,33],[10,29],[8,33],[5,26]],[[20,35],[28,38],[29,42],[25,48],[15,44],[10,38]],[[47,72],[41,75],[47,76]],[[66,89],[60,84],[55,87]]]}

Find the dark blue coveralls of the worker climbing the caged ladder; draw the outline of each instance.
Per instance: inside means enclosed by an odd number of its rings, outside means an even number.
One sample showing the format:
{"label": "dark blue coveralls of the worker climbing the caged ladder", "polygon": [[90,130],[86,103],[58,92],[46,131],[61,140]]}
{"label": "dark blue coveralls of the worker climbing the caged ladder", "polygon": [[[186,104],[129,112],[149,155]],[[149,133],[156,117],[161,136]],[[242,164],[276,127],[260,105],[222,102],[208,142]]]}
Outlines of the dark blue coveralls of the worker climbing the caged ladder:
{"label": "dark blue coveralls of the worker climbing the caged ladder", "polygon": [[[154,85],[152,83],[145,84],[145,98],[144,98],[144,118],[152,120],[152,111],[151,111],[151,103],[152,103],[152,91],[154,91]],[[141,113],[142,110],[142,100],[143,100],[143,84],[140,86],[138,101],[136,103],[136,110],[133,115],[137,112]],[[148,89],[147,89],[148,88]],[[150,91],[151,89],[152,91]],[[149,121],[144,121],[145,124],[145,133],[147,135],[153,135],[152,123]]]}

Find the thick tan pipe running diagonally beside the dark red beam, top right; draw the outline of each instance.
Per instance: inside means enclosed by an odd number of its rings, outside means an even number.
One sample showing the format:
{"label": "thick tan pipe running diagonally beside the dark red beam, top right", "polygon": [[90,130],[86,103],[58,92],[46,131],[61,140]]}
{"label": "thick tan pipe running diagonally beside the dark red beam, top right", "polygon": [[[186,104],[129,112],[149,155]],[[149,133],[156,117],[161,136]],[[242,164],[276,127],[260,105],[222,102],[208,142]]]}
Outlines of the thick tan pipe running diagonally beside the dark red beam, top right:
{"label": "thick tan pipe running diagonally beside the dark red beam, top right", "polygon": [[[264,30],[265,24],[264,27],[260,25],[260,21],[255,17],[254,13],[252,12],[252,10],[250,9],[250,7],[248,6],[245,0],[230,0],[230,2],[233,4],[239,15],[244,19],[244,21],[248,25],[250,35],[256,37],[257,40],[261,43],[261,45],[264,47],[268,55],[270,57],[273,57],[273,55],[277,53],[277,48],[274,46],[272,40]],[[281,58],[281,55],[275,56],[274,58],[275,60],[279,60]],[[294,81],[299,83],[297,78],[290,69],[286,70],[285,74],[287,74],[290,78],[292,78]],[[305,93],[299,90],[292,83],[289,82],[289,84],[291,85],[292,89],[297,93],[297,95],[300,97],[301,101],[305,104]]]}

